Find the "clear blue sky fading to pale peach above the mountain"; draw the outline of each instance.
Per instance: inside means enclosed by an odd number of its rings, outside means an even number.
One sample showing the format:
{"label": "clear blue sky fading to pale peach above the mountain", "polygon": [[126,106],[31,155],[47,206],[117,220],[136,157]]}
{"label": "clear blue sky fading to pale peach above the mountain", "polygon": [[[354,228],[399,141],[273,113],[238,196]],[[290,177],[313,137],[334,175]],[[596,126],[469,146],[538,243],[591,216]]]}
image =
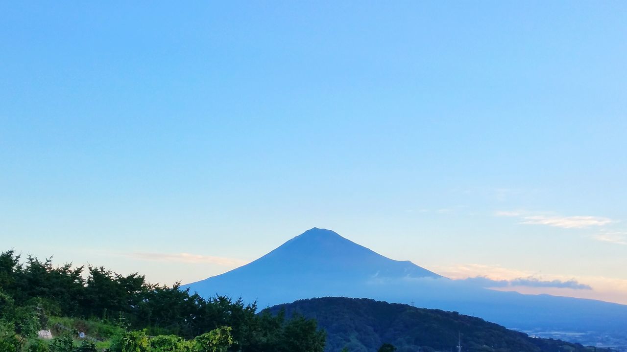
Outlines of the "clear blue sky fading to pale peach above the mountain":
{"label": "clear blue sky fading to pale peach above the mountain", "polygon": [[627,304],[624,1],[0,3],[0,250],[196,281],[311,227]]}

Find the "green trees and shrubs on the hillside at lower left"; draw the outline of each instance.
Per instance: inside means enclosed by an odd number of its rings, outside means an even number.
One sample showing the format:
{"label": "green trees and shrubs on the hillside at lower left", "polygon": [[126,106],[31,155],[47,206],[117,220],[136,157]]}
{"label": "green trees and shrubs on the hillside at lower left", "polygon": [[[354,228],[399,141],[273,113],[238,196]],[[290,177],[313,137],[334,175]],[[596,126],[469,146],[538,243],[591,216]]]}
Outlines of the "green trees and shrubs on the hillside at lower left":
{"label": "green trees and shrubs on the hillside at lower left", "polygon": [[[87,278],[83,278],[87,274]],[[0,352],[322,352],[312,319],[256,314],[255,303],[202,298],[103,267],[53,266],[50,259],[0,254]],[[70,329],[60,329],[63,326]],[[36,338],[53,329],[51,343]],[[101,339],[75,341],[78,331]]]}

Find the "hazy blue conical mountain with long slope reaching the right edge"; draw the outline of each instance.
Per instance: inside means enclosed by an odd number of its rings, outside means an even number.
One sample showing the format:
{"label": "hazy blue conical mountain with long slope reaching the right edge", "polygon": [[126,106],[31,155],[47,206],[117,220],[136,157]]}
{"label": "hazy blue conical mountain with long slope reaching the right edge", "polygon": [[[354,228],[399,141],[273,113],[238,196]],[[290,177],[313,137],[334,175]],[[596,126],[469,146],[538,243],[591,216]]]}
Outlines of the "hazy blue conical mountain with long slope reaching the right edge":
{"label": "hazy blue conical mountain with long slope reaching the right edge", "polygon": [[627,306],[622,304],[485,289],[447,279],[410,261],[394,261],[317,228],[250,264],[186,287],[201,296],[256,300],[261,307],[343,296],[458,311],[525,330],[624,336],[627,327]]}

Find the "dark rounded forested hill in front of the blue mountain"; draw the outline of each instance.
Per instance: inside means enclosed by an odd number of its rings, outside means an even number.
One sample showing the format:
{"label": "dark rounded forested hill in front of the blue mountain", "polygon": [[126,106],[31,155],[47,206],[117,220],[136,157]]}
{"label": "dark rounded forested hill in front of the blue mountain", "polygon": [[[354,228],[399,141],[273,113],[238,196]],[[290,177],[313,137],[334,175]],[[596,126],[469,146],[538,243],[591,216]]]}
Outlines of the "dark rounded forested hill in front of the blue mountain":
{"label": "dark rounded forested hill in front of the blue mountain", "polygon": [[[456,312],[423,309],[372,299],[315,298],[268,308],[271,313],[300,313],[315,318],[327,331],[325,351],[372,352],[383,343],[398,352],[456,351],[461,334],[463,352],[589,352],[581,344],[530,338]],[[600,349],[599,349],[600,351]]]}

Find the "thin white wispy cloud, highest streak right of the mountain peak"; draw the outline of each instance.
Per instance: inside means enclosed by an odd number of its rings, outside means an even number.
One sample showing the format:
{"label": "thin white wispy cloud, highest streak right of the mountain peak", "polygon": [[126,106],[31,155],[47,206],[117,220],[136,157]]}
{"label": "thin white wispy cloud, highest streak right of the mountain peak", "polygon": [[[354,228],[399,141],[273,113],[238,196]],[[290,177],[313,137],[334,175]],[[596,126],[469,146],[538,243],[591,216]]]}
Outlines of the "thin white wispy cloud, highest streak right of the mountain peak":
{"label": "thin white wispy cloud, highest streak right of the mountain peak", "polygon": [[537,215],[523,211],[497,211],[496,216],[518,217],[520,224],[527,225],[547,225],[561,227],[562,229],[583,229],[591,226],[604,226],[616,222],[608,217],[577,215],[577,216],[556,216]]}

